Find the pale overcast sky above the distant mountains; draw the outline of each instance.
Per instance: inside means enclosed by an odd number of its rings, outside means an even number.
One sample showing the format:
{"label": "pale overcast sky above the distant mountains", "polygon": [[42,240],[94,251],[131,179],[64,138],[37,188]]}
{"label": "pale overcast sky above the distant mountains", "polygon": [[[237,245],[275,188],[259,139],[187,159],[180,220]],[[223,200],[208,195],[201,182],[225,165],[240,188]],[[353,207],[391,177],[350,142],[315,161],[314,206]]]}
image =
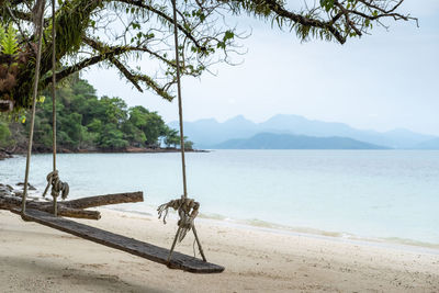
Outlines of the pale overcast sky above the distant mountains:
{"label": "pale overcast sky above the distant mountains", "polygon": [[[419,18],[419,26],[393,22],[390,31],[348,44],[312,41],[270,24],[245,19],[238,27],[252,35],[243,41],[244,64],[214,68],[217,76],[185,78],[184,120],[225,121],[244,115],[262,122],[275,114],[342,122],[358,128],[404,127],[439,135],[439,0],[406,0],[402,11]],[[92,68],[82,75],[99,95],[121,97],[128,105],[178,119],[177,100],[139,93],[115,70]]]}

